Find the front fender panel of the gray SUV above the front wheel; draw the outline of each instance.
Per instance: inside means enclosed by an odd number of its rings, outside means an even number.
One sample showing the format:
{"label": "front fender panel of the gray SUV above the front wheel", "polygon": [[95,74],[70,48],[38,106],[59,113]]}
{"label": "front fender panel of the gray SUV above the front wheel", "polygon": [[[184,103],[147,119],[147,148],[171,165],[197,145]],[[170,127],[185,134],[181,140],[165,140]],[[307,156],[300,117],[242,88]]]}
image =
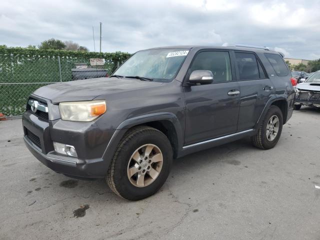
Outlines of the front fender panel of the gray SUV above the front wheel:
{"label": "front fender panel of the gray SUV above the front wheel", "polygon": [[107,111],[97,120],[97,124],[115,130],[102,156],[106,167],[125,132],[135,125],[168,120],[176,131],[178,149],[182,148],[185,119],[181,82],[173,80],[154,88],[109,94],[96,99],[103,98],[107,102]]}

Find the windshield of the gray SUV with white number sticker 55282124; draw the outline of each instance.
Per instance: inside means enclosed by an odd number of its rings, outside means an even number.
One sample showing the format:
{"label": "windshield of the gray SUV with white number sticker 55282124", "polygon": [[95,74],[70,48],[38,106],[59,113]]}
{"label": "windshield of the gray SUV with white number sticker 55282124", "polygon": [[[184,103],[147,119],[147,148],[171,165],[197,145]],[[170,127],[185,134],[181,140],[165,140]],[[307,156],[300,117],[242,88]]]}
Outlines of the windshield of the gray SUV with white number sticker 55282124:
{"label": "windshield of the gray SUV with white number sticker 55282124", "polygon": [[136,52],[113,74],[141,76],[156,81],[171,81],[183,63],[188,49],[150,49]]}

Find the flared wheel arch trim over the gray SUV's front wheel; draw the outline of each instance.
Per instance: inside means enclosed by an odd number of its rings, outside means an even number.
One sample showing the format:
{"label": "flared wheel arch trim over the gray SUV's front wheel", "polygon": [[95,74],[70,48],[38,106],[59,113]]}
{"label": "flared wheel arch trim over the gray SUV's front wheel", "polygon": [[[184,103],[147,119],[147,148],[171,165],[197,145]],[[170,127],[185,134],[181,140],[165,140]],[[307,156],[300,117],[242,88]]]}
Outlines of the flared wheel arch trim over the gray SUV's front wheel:
{"label": "flared wheel arch trim over the gray SUV's front wheel", "polygon": [[182,131],[179,120],[175,114],[172,112],[156,112],[135,116],[122,121],[115,129],[102,155],[106,169],[109,168],[117,145],[129,128],[143,123],[160,120],[168,120],[173,124],[177,136],[177,150],[179,151],[182,148],[184,132]]}

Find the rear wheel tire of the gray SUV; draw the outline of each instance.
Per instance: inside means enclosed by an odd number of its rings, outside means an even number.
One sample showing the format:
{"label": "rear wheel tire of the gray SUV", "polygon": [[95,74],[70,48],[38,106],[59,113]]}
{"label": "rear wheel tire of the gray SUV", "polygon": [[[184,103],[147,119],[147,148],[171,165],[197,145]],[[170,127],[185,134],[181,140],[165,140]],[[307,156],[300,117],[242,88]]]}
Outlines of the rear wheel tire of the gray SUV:
{"label": "rear wheel tire of the gray SUV", "polygon": [[[278,128],[276,130],[276,135],[275,136],[273,134],[267,135],[267,127],[270,127],[268,123],[271,117],[273,117],[272,119],[274,119],[275,121],[276,120],[275,116],[278,119]],[[254,136],[251,136],[252,144],[261,149],[270,149],[274,147],[280,138],[282,125],[283,125],[283,116],[280,108],[275,105],[271,105],[268,111],[266,112],[263,121],[260,123],[256,134]],[[274,125],[273,131],[271,132],[275,132],[274,128],[276,129],[276,124]]]}

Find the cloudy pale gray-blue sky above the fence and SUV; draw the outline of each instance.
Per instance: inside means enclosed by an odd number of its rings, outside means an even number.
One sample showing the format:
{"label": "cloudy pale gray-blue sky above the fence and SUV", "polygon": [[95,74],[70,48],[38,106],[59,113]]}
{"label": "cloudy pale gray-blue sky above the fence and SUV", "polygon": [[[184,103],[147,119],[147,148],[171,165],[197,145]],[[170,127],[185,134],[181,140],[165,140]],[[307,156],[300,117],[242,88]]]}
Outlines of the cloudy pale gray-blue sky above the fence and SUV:
{"label": "cloudy pale gray-blue sky above the fence and SUV", "polygon": [[320,58],[320,0],[2,0],[0,45],[49,38],[99,50],[166,45],[269,46],[285,57]]}

